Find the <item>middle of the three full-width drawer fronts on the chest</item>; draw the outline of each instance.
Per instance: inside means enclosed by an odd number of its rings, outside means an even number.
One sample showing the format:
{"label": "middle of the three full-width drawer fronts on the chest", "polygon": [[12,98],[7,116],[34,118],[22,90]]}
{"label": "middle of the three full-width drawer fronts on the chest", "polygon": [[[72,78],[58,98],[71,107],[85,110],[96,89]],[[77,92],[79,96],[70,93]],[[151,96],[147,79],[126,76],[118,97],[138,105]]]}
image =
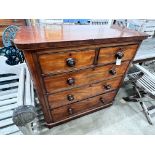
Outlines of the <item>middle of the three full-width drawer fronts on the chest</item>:
{"label": "middle of the three full-width drawer fronts on the chest", "polygon": [[122,77],[107,80],[89,86],[74,88],[48,96],[51,108],[57,108],[92,96],[96,96],[114,89],[117,89]]}

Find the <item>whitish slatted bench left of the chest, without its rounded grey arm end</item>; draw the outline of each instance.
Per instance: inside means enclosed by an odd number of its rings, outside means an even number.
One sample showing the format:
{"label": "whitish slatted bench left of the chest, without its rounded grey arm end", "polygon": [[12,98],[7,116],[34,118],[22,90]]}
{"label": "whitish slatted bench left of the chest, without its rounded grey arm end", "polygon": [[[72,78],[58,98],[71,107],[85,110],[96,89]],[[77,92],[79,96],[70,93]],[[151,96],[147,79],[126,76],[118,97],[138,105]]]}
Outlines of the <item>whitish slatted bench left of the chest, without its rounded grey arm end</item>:
{"label": "whitish slatted bench left of the chest, without its rounded grey arm end", "polygon": [[24,104],[34,106],[33,83],[25,63],[10,66],[6,60],[0,56],[0,134],[21,134],[21,131],[32,134],[29,124],[19,131],[12,121],[12,114],[15,108]]}

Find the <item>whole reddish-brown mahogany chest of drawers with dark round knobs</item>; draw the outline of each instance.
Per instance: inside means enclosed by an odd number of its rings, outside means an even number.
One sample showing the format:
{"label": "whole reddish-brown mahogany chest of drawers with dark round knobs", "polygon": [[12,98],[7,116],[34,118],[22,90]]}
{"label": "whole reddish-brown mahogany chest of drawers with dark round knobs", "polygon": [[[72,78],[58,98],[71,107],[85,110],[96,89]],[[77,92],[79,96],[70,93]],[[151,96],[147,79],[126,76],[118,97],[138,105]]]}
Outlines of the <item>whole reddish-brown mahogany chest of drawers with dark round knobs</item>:
{"label": "whole reddish-brown mahogany chest of drawers with dark round knobs", "polygon": [[48,127],[112,105],[145,34],[113,26],[20,27]]}

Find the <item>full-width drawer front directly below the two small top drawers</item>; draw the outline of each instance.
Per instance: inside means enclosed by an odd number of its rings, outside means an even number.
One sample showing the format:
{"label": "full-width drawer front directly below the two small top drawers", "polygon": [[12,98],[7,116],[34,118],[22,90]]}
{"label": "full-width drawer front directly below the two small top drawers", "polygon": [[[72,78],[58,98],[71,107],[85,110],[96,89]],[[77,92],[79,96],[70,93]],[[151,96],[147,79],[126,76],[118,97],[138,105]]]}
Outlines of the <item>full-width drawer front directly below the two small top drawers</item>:
{"label": "full-width drawer front directly below the two small top drawers", "polygon": [[80,70],[78,72],[69,72],[52,77],[45,77],[44,82],[46,91],[49,93],[58,92],[75,86],[122,76],[128,65],[129,61],[123,62],[120,66],[112,64],[95,67],[92,69]]}

